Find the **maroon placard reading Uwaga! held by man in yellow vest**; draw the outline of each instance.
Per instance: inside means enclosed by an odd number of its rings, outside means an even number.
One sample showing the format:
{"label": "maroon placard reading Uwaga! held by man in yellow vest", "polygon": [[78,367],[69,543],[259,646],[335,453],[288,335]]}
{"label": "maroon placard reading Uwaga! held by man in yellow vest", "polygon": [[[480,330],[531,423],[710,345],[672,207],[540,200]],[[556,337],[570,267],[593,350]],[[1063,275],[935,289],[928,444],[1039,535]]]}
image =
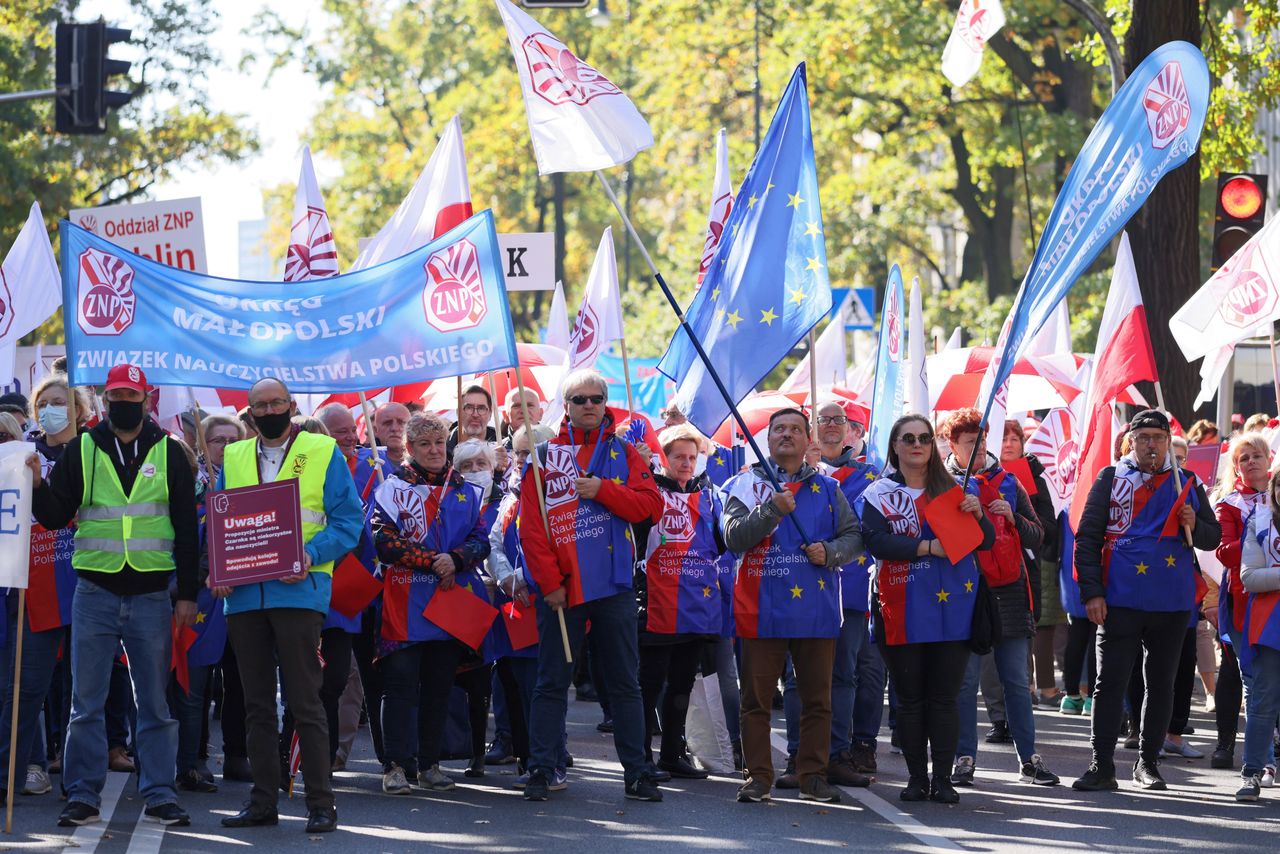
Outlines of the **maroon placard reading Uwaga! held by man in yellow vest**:
{"label": "maroon placard reading Uwaga! held by man in yellow vest", "polygon": [[302,502],[294,478],[224,489],[205,504],[215,588],[302,574]]}

